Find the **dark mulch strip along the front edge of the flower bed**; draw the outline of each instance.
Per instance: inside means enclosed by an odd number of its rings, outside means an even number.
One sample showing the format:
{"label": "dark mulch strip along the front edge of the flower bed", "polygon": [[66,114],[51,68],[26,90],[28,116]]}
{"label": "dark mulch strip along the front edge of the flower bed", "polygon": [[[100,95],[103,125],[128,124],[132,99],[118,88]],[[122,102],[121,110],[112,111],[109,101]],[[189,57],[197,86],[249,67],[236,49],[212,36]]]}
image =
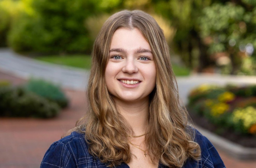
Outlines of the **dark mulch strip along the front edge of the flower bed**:
{"label": "dark mulch strip along the front edge of the flower bed", "polygon": [[256,148],[255,135],[245,136],[242,134],[238,134],[231,129],[217,127],[216,125],[211,124],[207,118],[204,118],[203,116],[199,116],[190,111],[189,111],[189,115],[192,119],[193,124],[196,124],[202,128],[205,128],[208,131],[218,134],[219,136],[224,137],[225,139],[230,140],[234,143],[240,144],[244,147]]}

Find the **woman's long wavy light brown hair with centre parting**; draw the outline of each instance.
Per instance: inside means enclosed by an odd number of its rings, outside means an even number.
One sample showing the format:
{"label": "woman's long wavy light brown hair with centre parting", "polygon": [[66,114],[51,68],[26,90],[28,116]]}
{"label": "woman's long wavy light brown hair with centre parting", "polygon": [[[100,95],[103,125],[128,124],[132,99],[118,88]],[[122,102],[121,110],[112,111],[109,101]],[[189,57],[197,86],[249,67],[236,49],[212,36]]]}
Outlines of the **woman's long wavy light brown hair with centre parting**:
{"label": "woman's long wavy light brown hair with centre parting", "polygon": [[110,44],[118,28],[138,28],[150,44],[156,64],[156,86],[150,93],[149,132],[145,136],[151,161],[161,162],[170,168],[181,168],[188,158],[200,159],[200,147],[193,141],[187,111],[179,104],[176,78],[163,31],[152,16],[140,10],[117,12],[102,26],[92,52],[87,88],[89,109],[77,121],[73,131],[85,133],[90,154],[109,167],[131,161],[127,136],[132,130],[118,112],[105,82]]}

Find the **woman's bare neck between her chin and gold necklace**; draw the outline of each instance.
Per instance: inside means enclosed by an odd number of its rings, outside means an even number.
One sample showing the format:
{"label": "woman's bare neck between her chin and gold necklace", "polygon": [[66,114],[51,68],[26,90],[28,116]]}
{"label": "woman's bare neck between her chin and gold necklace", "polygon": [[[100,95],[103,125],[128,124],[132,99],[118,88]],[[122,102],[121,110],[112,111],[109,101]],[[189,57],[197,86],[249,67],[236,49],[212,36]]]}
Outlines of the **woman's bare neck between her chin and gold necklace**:
{"label": "woman's bare neck between her chin and gold necklace", "polygon": [[123,102],[115,100],[120,114],[131,126],[133,135],[144,134],[148,126],[149,100],[139,102]]}

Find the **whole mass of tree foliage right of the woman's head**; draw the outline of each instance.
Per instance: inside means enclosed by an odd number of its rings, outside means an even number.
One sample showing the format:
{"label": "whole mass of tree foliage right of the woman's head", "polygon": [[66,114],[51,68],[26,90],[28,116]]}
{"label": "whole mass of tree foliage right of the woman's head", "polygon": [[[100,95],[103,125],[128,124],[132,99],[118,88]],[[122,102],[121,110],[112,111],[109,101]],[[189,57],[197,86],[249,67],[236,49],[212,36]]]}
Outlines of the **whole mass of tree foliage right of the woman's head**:
{"label": "whole mass of tree foliage right of the woman's head", "polygon": [[177,29],[172,47],[187,66],[197,67],[198,72],[215,65],[213,54],[226,52],[231,59],[230,73],[236,74],[243,63],[241,55],[246,55],[240,52],[241,47],[248,44],[256,47],[254,0],[152,0],[152,3],[155,11],[170,19]]}

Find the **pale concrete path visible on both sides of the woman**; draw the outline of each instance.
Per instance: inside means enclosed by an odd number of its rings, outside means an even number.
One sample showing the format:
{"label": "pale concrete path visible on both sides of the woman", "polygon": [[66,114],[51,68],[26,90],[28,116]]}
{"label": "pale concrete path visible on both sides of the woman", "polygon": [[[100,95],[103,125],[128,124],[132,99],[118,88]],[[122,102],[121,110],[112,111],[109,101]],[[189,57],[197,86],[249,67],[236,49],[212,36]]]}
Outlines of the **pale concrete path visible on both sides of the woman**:
{"label": "pale concrete path visible on both sides of the woman", "polygon": [[[89,72],[83,69],[29,59],[10,49],[0,49],[0,70],[23,79],[43,78],[74,90],[85,90],[89,78]],[[200,84],[256,84],[256,76],[190,75],[178,77],[177,83],[180,99],[186,104],[189,90]]]}

